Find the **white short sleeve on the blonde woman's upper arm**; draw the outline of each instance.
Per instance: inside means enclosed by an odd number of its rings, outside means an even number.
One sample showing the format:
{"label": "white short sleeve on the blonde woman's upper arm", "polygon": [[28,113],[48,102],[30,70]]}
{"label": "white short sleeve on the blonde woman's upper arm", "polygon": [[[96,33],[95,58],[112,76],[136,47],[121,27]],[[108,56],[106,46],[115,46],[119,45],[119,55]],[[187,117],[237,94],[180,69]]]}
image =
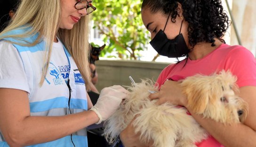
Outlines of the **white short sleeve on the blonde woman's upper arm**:
{"label": "white short sleeve on the blonde woman's upper arm", "polygon": [[23,61],[13,44],[0,40],[0,88],[29,91]]}

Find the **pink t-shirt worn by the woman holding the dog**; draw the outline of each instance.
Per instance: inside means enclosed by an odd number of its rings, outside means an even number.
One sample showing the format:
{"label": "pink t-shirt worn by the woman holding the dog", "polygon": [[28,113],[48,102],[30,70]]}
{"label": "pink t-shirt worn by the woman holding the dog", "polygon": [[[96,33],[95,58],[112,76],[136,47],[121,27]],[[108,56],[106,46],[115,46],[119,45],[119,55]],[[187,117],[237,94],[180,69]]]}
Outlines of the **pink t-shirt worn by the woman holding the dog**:
{"label": "pink t-shirt worn by the woman holding the dog", "polygon": [[[239,87],[256,86],[256,59],[253,54],[243,46],[227,44],[220,45],[202,59],[187,59],[187,61],[184,59],[178,64],[167,66],[158,77],[157,83],[161,86],[167,79],[179,81],[195,74],[209,75],[223,69],[237,76]],[[223,147],[212,136],[196,145],[198,147]]]}

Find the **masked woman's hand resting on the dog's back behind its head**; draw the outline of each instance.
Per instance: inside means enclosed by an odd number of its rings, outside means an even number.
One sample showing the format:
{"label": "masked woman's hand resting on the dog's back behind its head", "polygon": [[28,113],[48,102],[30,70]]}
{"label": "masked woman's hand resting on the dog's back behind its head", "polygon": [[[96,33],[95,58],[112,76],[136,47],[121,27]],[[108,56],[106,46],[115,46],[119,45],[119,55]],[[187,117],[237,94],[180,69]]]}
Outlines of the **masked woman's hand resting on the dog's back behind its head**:
{"label": "masked woman's hand resting on the dog's back behind its head", "polygon": [[161,86],[160,91],[149,96],[150,100],[159,99],[156,104],[166,102],[186,107],[187,98],[181,91],[180,82],[167,80]]}

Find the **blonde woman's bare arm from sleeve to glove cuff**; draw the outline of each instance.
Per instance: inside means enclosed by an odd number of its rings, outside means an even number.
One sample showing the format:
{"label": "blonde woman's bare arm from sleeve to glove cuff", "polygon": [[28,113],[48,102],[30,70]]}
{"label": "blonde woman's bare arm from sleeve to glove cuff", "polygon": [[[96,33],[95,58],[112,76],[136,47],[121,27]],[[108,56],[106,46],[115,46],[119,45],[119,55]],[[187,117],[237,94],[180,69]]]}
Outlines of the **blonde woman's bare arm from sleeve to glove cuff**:
{"label": "blonde woman's bare arm from sleeve to glove cuff", "polygon": [[0,130],[14,147],[56,140],[99,120],[91,110],[58,117],[30,116],[27,92],[17,89],[0,88],[0,104]]}

